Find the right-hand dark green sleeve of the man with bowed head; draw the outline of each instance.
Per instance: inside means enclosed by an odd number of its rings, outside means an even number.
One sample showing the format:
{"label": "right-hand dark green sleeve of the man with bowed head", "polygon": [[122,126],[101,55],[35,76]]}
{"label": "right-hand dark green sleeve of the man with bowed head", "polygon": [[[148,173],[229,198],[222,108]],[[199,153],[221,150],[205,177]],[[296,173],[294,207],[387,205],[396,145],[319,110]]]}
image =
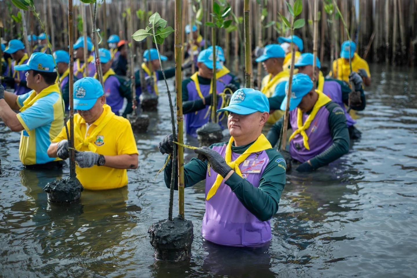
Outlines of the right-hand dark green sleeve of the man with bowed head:
{"label": "right-hand dark green sleeve of the man with bowed head", "polygon": [[349,152],[349,130],[347,129],[343,109],[334,102],[328,103],[326,108],[330,113],[328,122],[333,144],[324,152],[310,159],[314,169],[327,165]]}

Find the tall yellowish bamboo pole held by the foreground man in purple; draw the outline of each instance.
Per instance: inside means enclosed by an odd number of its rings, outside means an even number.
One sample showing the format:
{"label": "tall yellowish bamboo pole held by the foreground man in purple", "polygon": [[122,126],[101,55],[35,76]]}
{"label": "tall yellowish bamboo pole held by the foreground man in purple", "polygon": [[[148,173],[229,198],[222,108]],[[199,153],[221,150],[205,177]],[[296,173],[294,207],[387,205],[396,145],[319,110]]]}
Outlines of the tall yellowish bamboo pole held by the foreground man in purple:
{"label": "tall yellowish bamboo pole held by the foreground man in purple", "polygon": [[[175,0],[175,93],[177,100],[178,143],[184,144],[183,110],[182,110],[182,25],[181,0]],[[174,144],[176,145],[176,144]],[[178,207],[179,215],[184,219],[184,147],[178,146]]]}

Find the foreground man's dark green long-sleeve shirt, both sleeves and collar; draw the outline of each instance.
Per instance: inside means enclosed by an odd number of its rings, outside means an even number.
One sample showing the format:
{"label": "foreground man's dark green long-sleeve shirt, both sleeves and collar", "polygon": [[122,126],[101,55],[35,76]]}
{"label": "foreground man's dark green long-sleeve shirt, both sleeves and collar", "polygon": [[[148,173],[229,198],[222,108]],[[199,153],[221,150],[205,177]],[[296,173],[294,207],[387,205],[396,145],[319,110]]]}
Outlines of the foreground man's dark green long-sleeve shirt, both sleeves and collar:
{"label": "foreground man's dark green long-sleeve shirt, both sleeves and collar", "polygon": [[[216,143],[211,145],[221,146],[227,143]],[[245,145],[240,147],[232,146],[234,153],[242,154],[252,145]],[[267,221],[278,211],[279,199],[281,198],[282,190],[285,185],[285,171],[286,164],[284,158],[274,149],[266,150],[269,158],[269,163],[266,165],[262,173],[259,187],[256,188],[248,180],[241,178],[238,174],[233,173],[228,180],[228,185],[236,194],[236,197],[253,215],[261,221]],[[171,160],[172,161],[172,160]],[[169,188],[171,184],[172,163],[168,163],[164,170],[164,177],[166,186]],[[189,163],[184,165],[184,185],[190,187],[201,180],[206,179],[207,161],[201,161],[197,158],[192,158]],[[211,169],[211,175],[215,175]],[[175,173],[177,177],[177,174]],[[177,185],[177,178],[175,184]],[[177,190],[177,186],[175,187]]]}

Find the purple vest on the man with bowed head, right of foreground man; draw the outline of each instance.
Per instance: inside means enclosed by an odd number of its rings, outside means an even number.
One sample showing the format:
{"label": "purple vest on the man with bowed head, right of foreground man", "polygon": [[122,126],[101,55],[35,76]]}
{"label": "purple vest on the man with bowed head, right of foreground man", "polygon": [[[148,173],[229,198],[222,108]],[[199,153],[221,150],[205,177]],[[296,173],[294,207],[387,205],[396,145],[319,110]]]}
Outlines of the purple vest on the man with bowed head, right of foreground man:
{"label": "purple vest on the man with bowed head, right of foreground man", "polygon": [[[297,110],[294,109],[289,113],[289,119],[292,130],[298,129],[297,125]],[[289,152],[291,157],[298,160],[301,163],[314,158],[316,155],[324,152],[333,144],[332,134],[329,129],[329,111],[325,106],[320,108],[317,112],[316,117],[311,122],[309,128],[306,130],[307,136],[309,137],[310,150],[304,147],[303,136],[297,134],[289,145]],[[303,113],[303,123],[307,120],[309,115]]]}

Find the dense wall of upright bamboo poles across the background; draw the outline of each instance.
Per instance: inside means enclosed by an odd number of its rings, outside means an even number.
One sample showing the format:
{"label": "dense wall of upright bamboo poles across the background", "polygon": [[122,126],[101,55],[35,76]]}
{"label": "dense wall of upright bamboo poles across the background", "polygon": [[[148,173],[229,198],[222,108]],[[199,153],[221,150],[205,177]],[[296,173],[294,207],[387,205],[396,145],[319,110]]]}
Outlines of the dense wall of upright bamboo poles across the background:
{"label": "dense wall of upright bamboo poles across the background", "polygon": [[[202,0],[201,5],[204,7],[205,15],[203,23],[210,20],[210,12],[213,0]],[[174,22],[174,0],[147,0],[146,10],[151,12],[158,11],[161,16]],[[322,61],[333,60],[337,57],[340,45],[347,40],[347,34],[343,28],[340,18],[330,16],[324,10],[324,4],[328,0],[320,0],[318,10],[321,13],[319,18],[319,53],[318,56]],[[330,1],[331,2],[331,1]],[[182,1],[182,26],[193,20],[193,10],[190,8],[193,0]],[[229,0],[234,13],[238,17],[243,17],[244,1]],[[306,25],[297,30],[304,40],[305,52],[313,50],[313,1],[304,0],[304,10],[302,18],[308,19]],[[357,42],[357,52],[372,62],[392,63],[396,65],[415,65],[417,62],[417,0],[338,0],[338,6],[345,18],[351,33],[352,40]],[[23,23],[14,23],[11,15],[17,15],[18,10],[13,5],[8,6],[8,1],[0,1],[0,10],[8,11],[3,13],[0,18],[0,35],[5,40],[10,40],[23,35]],[[99,6],[97,15],[98,28],[101,30],[103,37],[102,46],[106,44],[106,38],[111,34],[118,34],[121,38],[128,38],[128,20],[126,11],[131,9],[133,17],[136,19],[136,11],[144,10],[143,1],[126,2],[124,0],[103,1]],[[63,0],[35,0],[35,6],[40,11],[40,17],[45,20],[45,25],[51,35],[51,43],[55,49],[68,49],[68,23],[62,15],[68,13],[67,1]],[[251,45],[274,43],[280,35],[288,33],[278,33],[272,26],[264,28],[271,21],[278,21],[281,13],[288,16],[288,10],[284,1],[261,0],[261,5],[256,0],[249,1],[251,10]],[[268,14],[261,22],[261,10],[266,8]],[[79,23],[81,18],[81,7],[74,6],[74,21]],[[87,18],[90,17],[90,11],[85,10]],[[30,13],[25,13],[25,21],[28,26],[29,34],[41,33],[40,26]],[[331,22],[329,22],[331,21]],[[86,22],[87,30],[92,30],[91,23]],[[143,28],[144,22],[133,20],[133,29]],[[80,28],[75,28],[75,38],[82,35]],[[82,29],[82,28],[81,28]],[[199,32],[205,38],[211,38],[211,28],[199,26]],[[231,67],[230,56],[243,56],[243,23],[239,25],[237,31],[227,33],[221,30],[218,34],[217,45],[225,50],[226,60]],[[90,34],[88,34],[90,35]],[[334,36],[334,38],[332,38]],[[185,34],[182,34],[183,41],[186,41]],[[173,37],[166,39],[166,43],[161,46],[161,51],[167,55],[172,55],[174,50]],[[332,42],[335,42],[334,45]],[[143,48],[144,49],[144,48]],[[331,56],[332,55],[332,56]],[[243,59],[235,63],[234,70],[237,71],[237,65],[242,65]],[[232,67],[233,68],[233,67]]]}

